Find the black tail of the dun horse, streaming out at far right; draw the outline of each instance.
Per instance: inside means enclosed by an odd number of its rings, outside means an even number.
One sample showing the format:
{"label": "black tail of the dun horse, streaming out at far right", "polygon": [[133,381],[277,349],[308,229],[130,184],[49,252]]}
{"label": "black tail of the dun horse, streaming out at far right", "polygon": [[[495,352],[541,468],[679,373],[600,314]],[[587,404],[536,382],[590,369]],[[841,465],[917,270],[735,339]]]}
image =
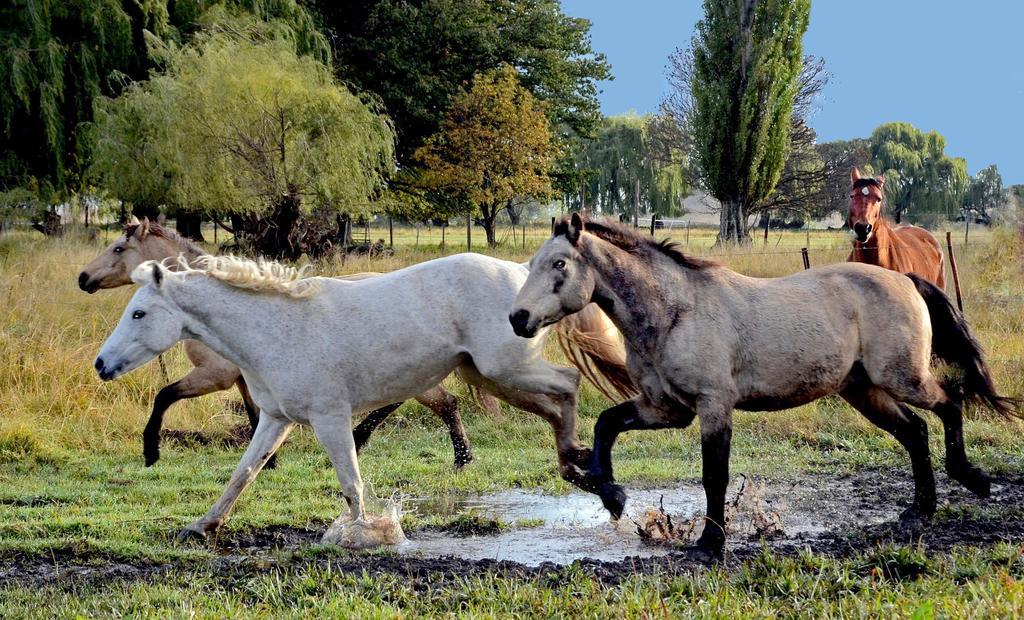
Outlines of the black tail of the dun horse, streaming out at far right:
{"label": "black tail of the dun horse, streaming out at far right", "polygon": [[963,375],[943,382],[953,399],[975,401],[1006,417],[1024,419],[1020,399],[999,396],[985,364],[981,344],[971,333],[964,315],[949,301],[942,289],[914,274],[906,275],[925,299],[932,318],[932,353],[943,362],[956,366]]}

